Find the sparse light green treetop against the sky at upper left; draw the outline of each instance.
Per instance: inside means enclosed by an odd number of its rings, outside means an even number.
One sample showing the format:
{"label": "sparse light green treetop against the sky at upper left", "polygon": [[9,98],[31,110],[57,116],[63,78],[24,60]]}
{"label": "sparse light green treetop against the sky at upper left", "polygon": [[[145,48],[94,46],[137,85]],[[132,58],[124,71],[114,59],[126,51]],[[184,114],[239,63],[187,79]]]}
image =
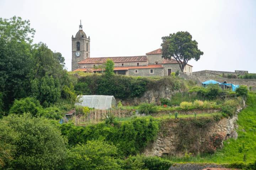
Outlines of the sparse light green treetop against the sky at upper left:
{"label": "sparse light green treetop against the sky at upper left", "polygon": [[31,43],[35,32],[30,28],[30,20],[22,20],[16,16],[9,19],[0,18],[0,38],[6,41],[16,39]]}

